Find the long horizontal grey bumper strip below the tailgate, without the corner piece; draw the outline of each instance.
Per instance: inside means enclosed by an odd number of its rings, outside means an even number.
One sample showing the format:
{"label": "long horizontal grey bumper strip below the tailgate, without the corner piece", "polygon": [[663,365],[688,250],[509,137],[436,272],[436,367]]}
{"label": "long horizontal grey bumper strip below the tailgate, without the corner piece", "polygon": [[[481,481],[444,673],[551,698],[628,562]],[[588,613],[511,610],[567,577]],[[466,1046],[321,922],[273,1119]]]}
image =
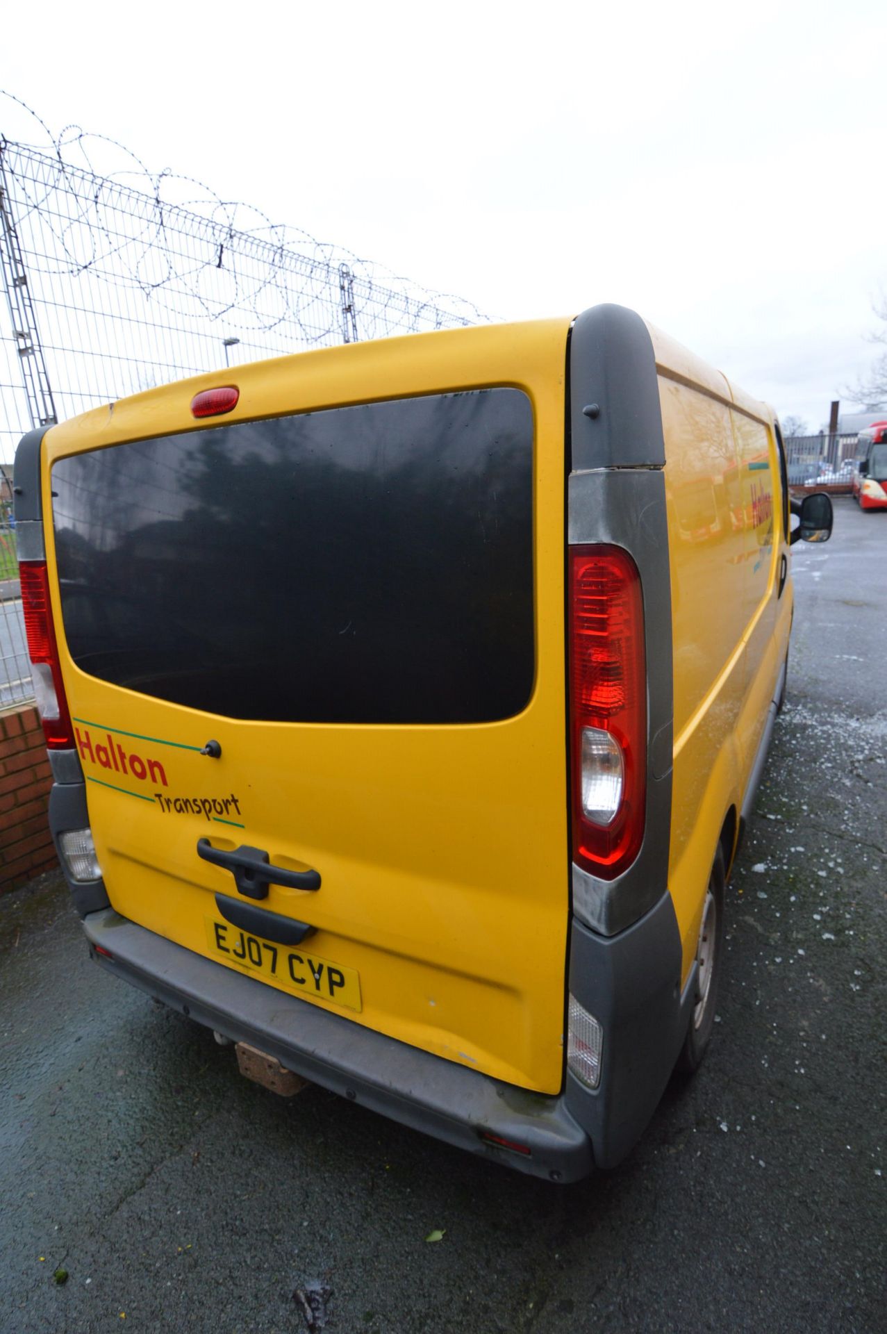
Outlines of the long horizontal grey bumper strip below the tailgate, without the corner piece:
{"label": "long horizontal grey bumper strip below the tailgate, without the corner piece", "polygon": [[[249,1042],[333,1093],[532,1177],[570,1182],[592,1169],[591,1143],[563,1098],[530,1093],[443,1061],[204,959],[112,908],[84,930],[103,967],[236,1042]],[[495,1149],[488,1131],[527,1145]]]}

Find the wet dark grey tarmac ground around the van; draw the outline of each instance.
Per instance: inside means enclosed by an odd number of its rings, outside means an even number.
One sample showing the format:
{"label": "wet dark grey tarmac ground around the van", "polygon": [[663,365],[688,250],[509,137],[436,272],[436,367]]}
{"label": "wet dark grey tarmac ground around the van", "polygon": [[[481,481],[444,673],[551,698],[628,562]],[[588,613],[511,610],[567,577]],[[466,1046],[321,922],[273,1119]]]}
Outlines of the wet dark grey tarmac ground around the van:
{"label": "wet dark grey tarmac ground around the van", "polygon": [[622,1167],[558,1187],[248,1083],[49,874],[0,899],[0,1330],[883,1331],[887,512],[835,511],[712,1047]]}

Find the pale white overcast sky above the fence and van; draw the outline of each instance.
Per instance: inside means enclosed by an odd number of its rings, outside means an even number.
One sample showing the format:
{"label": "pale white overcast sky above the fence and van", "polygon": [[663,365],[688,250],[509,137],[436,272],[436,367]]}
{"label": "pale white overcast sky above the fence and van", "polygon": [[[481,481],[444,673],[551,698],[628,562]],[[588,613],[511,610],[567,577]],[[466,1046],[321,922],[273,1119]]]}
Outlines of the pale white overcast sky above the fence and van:
{"label": "pale white overcast sky above the fence and van", "polygon": [[818,428],[887,287],[886,55],[883,0],[43,0],[0,87],[492,315],[631,305]]}

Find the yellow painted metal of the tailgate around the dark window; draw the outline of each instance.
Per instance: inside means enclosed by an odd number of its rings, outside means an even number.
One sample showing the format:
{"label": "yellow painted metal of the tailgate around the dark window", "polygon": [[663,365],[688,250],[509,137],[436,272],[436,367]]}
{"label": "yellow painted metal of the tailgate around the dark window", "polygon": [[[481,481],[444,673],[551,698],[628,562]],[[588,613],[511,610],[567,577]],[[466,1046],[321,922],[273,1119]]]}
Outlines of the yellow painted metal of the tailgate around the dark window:
{"label": "yellow painted metal of the tailgate around the dark window", "polygon": [[[355,968],[363,1010],[343,1011],[451,1061],[555,1093],[563,1078],[568,928],[564,764],[563,436],[568,320],[441,332],[280,358],[152,390],[55,427],[49,464],[80,450],[197,430],[199,390],[236,383],[215,424],[341,403],[511,384],[532,402],[536,682],[516,718],[484,726],[265,724],[216,719],[109,686],[68,658],[72,714],[93,756],[123,746],[145,767],[84,760],[99,862],[117,911],[205,954],[211,891],[231,875],[196,856],[197,838],[249,843],[276,864],[321,870],[317,894],[272,886],[263,906],[319,926],[317,955]],[[204,423],[205,426],[205,423]],[[51,510],[49,472],[44,507]],[[47,526],[48,559],[53,539]],[[52,580],[55,586],[55,579]],[[81,734],[85,724],[79,724]],[[195,750],[223,744],[219,760]],[[115,751],[116,758],[116,751]],[[135,778],[135,780],[133,780]],[[100,782],[95,782],[99,779]],[[113,786],[101,786],[109,783]],[[128,786],[127,786],[128,784]],[[124,791],[115,790],[116,787]],[[161,810],[151,795],[223,800],[215,814]],[[231,806],[236,795],[240,812]],[[147,799],[145,799],[147,798]],[[320,1003],[323,1000],[312,1000]],[[327,1002],[328,1005],[328,1002]]]}

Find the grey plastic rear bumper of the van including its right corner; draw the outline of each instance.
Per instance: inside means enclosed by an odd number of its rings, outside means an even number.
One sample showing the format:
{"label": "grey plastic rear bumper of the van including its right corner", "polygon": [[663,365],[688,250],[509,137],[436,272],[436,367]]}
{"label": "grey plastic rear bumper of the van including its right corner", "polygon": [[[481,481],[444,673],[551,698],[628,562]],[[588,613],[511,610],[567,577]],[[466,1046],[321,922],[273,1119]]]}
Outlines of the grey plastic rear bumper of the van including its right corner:
{"label": "grey plastic rear bumper of the van including its right corner", "polygon": [[[679,994],[680,940],[664,894],[615,936],[574,919],[570,990],[604,1033],[600,1086],[567,1073],[558,1097],[532,1093],[308,1005],[225,968],[120,916],[83,922],[93,958],[109,972],[288,1070],[413,1130],[555,1182],[614,1167],[650,1121],[674,1067],[694,999]],[[526,1146],[498,1147],[484,1134]]]}

